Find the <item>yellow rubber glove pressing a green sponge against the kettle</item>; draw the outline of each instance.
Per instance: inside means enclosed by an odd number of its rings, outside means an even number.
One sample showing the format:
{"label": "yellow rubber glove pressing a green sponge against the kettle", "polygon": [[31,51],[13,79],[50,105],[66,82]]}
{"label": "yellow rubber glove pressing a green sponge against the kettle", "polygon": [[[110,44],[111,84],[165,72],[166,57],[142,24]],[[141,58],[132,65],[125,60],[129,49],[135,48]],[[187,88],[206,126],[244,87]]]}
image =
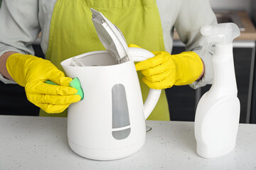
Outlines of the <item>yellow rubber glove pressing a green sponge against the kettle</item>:
{"label": "yellow rubber glove pressing a green sponge against the kettle", "polygon": [[[33,55],[10,55],[6,68],[17,84],[24,86],[28,101],[47,113],[61,113],[70,103],[80,101],[78,91],[69,85],[72,79],[50,61]],[[46,84],[50,80],[60,86]]]}

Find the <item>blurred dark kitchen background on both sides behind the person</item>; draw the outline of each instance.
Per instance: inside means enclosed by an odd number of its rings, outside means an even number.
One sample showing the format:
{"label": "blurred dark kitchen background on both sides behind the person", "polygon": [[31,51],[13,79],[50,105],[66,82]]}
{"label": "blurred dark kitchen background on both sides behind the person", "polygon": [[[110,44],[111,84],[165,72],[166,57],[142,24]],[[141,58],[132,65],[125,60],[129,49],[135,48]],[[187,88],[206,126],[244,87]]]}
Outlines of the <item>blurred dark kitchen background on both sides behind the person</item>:
{"label": "blurred dark kitchen background on both sides behind the person", "polygon": [[[210,4],[219,23],[233,22],[241,30],[240,37],[233,42],[238,98],[241,103],[240,123],[256,123],[256,0],[210,0]],[[39,38],[33,48],[36,56],[44,57]],[[173,54],[183,51],[184,45],[175,33]],[[171,120],[194,121],[197,103],[208,89],[210,85],[196,90],[189,86],[166,89]],[[38,108],[27,101],[23,87],[6,85],[0,81],[0,114],[38,115]]]}

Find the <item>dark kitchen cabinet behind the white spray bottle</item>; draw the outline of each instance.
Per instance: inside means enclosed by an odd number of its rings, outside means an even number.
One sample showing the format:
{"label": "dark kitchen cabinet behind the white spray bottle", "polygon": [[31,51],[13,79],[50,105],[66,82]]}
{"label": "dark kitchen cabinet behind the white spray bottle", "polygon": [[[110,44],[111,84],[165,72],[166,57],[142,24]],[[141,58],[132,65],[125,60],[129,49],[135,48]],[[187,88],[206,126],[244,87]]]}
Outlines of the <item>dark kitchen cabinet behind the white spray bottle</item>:
{"label": "dark kitchen cabinet behind the white spray bottle", "polygon": [[[173,48],[173,54],[185,50],[182,45]],[[252,102],[252,78],[255,62],[255,42],[234,42],[233,48],[235,77],[240,99],[240,123],[249,123]],[[211,85],[191,89],[189,86],[174,86],[166,89],[171,120],[193,121],[196,106]],[[256,92],[255,92],[256,93]]]}

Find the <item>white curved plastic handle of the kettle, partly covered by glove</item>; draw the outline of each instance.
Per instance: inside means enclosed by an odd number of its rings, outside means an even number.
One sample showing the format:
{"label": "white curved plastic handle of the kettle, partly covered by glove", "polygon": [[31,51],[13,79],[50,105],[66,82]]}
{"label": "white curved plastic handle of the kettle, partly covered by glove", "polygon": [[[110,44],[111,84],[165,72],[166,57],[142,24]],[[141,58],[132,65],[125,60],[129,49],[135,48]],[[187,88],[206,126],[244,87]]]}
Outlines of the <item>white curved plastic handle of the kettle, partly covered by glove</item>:
{"label": "white curved plastic handle of the kettle, partly covered by glove", "polygon": [[[132,56],[134,62],[142,62],[143,60],[154,57],[152,52],[138,47],[129,47],[129,55]],[[156,103],[159,101],[161,90],[149,89],[149,94],[144,103],[144,116],[145,119],[149,117],[150,113],[154,110]]]}

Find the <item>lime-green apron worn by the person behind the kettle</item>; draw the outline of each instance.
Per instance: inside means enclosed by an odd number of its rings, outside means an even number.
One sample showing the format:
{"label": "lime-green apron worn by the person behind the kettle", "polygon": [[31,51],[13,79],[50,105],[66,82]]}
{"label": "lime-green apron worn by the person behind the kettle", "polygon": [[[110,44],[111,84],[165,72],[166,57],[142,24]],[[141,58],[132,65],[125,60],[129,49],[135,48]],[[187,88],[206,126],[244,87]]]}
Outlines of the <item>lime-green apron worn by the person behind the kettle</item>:
{"label": "lime-green apron worn by the person behind the kettle", "polygon": [[[164,38],[159,11],[155,0],[58,0],[53,9],[46,59],[63,71],[60,62],[75,55],[105,50],[92,23],[90,8],[100,11],[124,34],[127,44],[136,44],[149,51],[164,50]],[[139,81],[145,101],[149,88]],[[86,94],[85,94],[86,97]],[[67,111],[41,116],[67,116]],[[163,90],[159,102],[148,120],[170,120],[166,94]]]}

